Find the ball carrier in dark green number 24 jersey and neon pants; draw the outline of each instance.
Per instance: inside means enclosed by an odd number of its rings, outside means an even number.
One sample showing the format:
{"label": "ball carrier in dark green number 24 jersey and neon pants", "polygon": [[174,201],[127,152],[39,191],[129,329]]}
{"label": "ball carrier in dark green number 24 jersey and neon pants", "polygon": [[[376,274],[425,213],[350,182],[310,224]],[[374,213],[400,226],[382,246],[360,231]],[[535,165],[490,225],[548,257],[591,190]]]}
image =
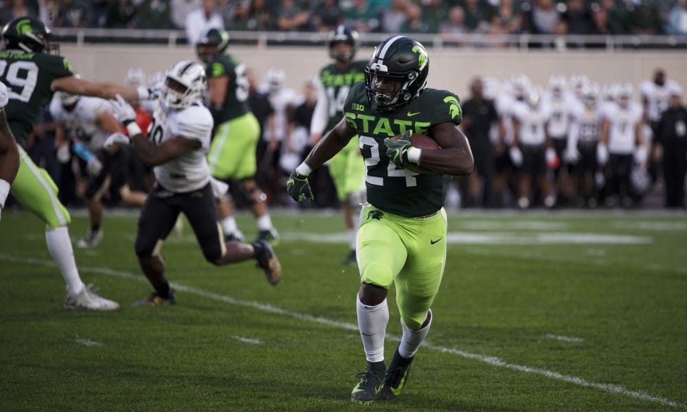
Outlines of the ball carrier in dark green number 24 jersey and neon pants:
{"label": "ball carrier in dark green number 24 jersey and neon pants", "polygon": [[[351,392],[353,402],[392,399],[405,386],[415,354],[431,326],[431,305],[446,260],[443,209],[451,176],[470,174],[473,157],[461,121],[458,96],[427,89],[429,58],[413,38],[394,36],[376,47],[365,82],[352,87],[345,117],[313,148],[286,183],[297,201],[312,198],[307,175],[355,135],[365,159],[370,205],[361,211],[357,236],[361,286],[358,327],[367,365]],[[441,150],[412,146],[410,133],[428,135]],[[403,135],[402,135],[403,134]],[[392,137],[402,135],[398,139]],[[409,170],[419,165],[423,173]],[[386,367],[387,294],[396,285],[403,336]]]}

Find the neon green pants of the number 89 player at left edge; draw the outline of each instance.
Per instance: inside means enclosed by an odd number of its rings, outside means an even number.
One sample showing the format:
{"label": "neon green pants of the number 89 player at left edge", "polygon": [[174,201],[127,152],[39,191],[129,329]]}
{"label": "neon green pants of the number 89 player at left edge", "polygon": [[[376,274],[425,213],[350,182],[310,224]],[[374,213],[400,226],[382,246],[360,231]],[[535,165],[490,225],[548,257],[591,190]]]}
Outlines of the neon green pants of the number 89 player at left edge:
{"label": "neon green pants of the number 89 player at left edge", "polygon": [[45,222],[46,229],[69,225],[71,216],[57,198],[57,185],[19,146],[19,171],[10,193],[23,207]]}

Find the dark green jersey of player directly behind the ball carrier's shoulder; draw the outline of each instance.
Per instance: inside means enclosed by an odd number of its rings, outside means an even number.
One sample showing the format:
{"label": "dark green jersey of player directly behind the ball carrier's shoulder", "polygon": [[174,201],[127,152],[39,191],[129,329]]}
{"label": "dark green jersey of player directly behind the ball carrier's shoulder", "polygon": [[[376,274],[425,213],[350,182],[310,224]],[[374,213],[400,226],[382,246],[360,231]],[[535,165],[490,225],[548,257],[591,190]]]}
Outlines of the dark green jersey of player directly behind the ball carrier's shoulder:
{"label": "dark green jersey of player directly behind the ball carrier's shoulder", "polygon": [[350,92],[350,88],[357,82],[365,80],[365,65],[367,62],[352,62],[346,69],[339,69],[334,63],[319,72],[319,81],[327,95],[327,115],[329,121],[325,130],[332,130],[343,117],[343,102]]}

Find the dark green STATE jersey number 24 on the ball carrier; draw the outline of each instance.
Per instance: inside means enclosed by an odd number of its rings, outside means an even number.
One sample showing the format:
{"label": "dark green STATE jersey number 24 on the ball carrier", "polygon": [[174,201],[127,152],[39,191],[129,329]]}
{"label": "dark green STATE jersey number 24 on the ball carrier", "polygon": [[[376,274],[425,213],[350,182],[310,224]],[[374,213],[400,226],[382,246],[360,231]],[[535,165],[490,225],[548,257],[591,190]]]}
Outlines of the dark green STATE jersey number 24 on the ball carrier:
{"label": "dark green STATE jersey number 24 on the ball carrier", "polygon": [[418,174],[398,169],[386,155],[384,139],[408,128],[431,135],[436,124],[460,124],[458,96],[446,90],[425,89],[418,98],[391,111],[379,111],[368,101],[365,83],[354,85],[343,105],[348,124],[357,131],[365,159],[368,202],[379,209],[405,217],[427,216],[444,205],[451,176]]}

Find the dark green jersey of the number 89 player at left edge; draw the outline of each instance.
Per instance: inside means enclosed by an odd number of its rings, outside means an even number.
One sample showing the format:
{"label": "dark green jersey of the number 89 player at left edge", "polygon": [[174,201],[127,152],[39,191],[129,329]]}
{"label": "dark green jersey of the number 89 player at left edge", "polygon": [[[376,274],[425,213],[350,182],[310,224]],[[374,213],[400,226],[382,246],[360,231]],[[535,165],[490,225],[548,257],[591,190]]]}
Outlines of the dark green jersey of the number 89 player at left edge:
{"label": "dark green jersey of the number 89 player at left edge", "polygon": [[5,111],[17,143],[26,144],[27,135],[52,99],[52,81],[73,75],[69,62],[61,56],[21,50],[0,52],[0,80],[10,93]]}

